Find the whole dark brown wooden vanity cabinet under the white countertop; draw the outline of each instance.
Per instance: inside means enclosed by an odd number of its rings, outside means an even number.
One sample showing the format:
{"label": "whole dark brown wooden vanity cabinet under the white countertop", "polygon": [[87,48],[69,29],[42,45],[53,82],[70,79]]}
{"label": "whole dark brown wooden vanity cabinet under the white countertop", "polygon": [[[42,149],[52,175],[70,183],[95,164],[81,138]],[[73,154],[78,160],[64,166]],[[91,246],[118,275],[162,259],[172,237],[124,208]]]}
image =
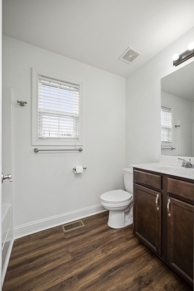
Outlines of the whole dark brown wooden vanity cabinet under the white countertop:
{"label": "whole dark brown wooden vanity cabinet under the white countertop", "polygon": [[136,168],[133,177],[135,236],[193,286],[194,180]]}

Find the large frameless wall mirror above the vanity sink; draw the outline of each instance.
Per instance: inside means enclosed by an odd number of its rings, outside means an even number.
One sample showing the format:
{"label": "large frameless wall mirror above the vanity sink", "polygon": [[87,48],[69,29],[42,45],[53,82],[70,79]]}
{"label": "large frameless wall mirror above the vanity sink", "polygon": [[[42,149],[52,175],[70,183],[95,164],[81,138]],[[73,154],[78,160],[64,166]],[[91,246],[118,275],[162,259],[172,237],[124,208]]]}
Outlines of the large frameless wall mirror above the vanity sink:
{"label": "large frameless wall mirror above the vanity sink", "polygon": [[194,62],[161,79],[161,154],[194,157]]}

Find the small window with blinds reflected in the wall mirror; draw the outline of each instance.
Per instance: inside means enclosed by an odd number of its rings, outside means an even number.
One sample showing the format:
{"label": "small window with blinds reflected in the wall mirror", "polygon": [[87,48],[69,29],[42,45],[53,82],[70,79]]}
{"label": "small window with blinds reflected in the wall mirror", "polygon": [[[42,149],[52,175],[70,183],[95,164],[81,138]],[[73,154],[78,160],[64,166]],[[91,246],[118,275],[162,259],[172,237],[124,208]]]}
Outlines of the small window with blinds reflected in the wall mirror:
{"label": "small window with blinds reflected in the wall mirror", "polygon": [[162,145],[172,143],[172,109],[161,108],[161,141]]}

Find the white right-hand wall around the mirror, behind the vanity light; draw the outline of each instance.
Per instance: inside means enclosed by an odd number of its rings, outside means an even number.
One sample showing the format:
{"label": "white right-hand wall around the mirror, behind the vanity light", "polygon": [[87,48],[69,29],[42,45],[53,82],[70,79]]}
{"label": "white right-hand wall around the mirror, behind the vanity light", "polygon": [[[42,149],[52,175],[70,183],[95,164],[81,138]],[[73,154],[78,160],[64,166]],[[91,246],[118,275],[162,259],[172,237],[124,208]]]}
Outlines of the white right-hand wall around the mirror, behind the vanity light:
{"label": "white right-hand wall around the mirror, behind the vanity light", "polygon": [[172,64],[186,51],[194,27],[126,79],[126,166],[158,162],[161,154],[161,79],[193,61]]}

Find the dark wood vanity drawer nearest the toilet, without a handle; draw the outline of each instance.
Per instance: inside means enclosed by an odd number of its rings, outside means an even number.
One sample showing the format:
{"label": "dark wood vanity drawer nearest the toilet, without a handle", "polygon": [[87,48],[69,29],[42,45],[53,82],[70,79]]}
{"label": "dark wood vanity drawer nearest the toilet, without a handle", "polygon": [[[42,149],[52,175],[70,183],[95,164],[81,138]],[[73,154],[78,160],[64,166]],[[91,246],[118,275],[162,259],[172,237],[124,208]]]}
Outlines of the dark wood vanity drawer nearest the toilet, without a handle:
{"label": "dark wood vanity drawer nearest the toilet, without a handle", "polygon": [[133,179],[134,182],[141,183],[159,190],[162,189],[162,180],[160,175],[134,170]]}

